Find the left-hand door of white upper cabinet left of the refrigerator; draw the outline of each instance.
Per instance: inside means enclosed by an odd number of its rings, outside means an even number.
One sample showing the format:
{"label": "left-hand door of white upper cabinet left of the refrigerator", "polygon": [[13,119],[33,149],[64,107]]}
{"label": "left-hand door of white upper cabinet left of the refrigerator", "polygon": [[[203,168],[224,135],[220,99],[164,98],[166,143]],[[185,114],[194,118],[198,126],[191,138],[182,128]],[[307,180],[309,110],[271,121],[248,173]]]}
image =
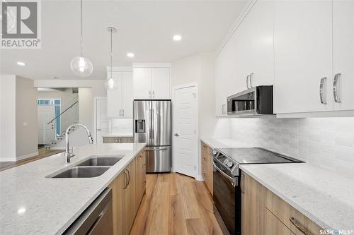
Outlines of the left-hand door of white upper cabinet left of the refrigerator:
{"label": "left-hand door of white upper cabinet left of the refrigerator", "polygon": [[113,79],[118,83],[115,90],[107,90],[107,116],[109,118],[120,118],[122,109],[122,73],[113,72]]}

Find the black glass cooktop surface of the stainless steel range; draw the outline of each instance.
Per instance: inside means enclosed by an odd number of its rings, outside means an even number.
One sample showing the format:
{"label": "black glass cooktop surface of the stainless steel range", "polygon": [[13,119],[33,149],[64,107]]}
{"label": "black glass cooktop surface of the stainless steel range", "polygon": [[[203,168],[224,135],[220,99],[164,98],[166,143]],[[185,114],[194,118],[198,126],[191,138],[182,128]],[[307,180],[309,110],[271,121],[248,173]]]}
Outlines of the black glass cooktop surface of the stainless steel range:
{"label": "black glass cooktop surface of the stainless steel range", "polygon": [[239,164],[270,164],[302,162],[298,159],[280,155],[261,147],[232,147],[217,149],[223,155],[234,159]]}

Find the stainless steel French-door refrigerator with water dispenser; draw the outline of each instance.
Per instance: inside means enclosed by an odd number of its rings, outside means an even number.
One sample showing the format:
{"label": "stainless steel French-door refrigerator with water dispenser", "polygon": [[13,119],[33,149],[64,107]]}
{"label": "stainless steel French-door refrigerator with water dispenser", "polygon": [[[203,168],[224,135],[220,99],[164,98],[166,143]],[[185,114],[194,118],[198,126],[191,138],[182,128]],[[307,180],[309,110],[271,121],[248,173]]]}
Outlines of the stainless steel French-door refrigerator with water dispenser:
{"label": "stainless steel French-door refrigerator with water dispenser", "polygon": [[171,171],[171,100],[134,100],[135,143],[147,143],[147,172]]}

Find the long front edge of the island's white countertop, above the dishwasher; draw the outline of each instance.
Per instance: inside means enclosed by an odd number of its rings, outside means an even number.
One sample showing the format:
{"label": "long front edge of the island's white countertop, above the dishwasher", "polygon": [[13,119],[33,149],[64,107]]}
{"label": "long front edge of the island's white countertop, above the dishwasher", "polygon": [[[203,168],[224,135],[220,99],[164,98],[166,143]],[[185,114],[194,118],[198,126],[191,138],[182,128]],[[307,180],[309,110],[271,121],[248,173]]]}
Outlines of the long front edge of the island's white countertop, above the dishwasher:
{"label": "long front edge of the island's white countertop, above the dishwasher", "polygon": [[137,157],[137,155],[139,155],[139,152],[142,152],[142,150],[144,149],[144,147],[146,147],[146,145],[143,145],[142,147],[139,148],[139,151],[137,151],[135,153],[135,155],[132,155],[132,157],[130,157],[129,159],[126,160],[125,164],[123,167],[121,167],[109,180],[107,183],[103,184],[103,186],[100,188],[100,190],[93,195],[88,201],[87,203],[85,203],[85,205],[83,205],[80,210],[78,210],[74,216],[72,216],[70,219],[68,219],[68,221],[55,233],[55,234],[62,234],[64,233],[65,230],[67,230],[67,228],[70,227],[70,225],[72,225],[72,223],[82,214],[82,212],[84,212],[87,207],[89,207],[89,205],[91,205],[91,203],[93,203],[94,200],[96,200],[96,198],[98,197],[98,195],[100,195],[105,188],[107,188],[107,186],[112,183],[112,181],[122,172],[123,169],[125,169],[125,167],[127,167],[128,164],[130,164],[130,162],[132,162],[133,159],[135,159],[135,157]]}

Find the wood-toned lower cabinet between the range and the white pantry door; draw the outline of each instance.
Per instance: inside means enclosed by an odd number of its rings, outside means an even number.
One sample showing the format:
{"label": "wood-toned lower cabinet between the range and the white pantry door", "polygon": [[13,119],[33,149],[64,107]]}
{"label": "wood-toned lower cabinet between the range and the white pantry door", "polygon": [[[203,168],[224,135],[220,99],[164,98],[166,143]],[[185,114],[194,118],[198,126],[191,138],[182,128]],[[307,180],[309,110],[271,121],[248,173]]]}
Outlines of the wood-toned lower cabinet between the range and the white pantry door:
{"label": "wood-toned lower cabinet between the range and the white pantry door", "polygon": [[212,148],[207,144],[201,142],[202,146],[202,177],[204,178],[205,185],[207,189],[212,194],[212,157],[210,156],[210,152],[212,152]]}

